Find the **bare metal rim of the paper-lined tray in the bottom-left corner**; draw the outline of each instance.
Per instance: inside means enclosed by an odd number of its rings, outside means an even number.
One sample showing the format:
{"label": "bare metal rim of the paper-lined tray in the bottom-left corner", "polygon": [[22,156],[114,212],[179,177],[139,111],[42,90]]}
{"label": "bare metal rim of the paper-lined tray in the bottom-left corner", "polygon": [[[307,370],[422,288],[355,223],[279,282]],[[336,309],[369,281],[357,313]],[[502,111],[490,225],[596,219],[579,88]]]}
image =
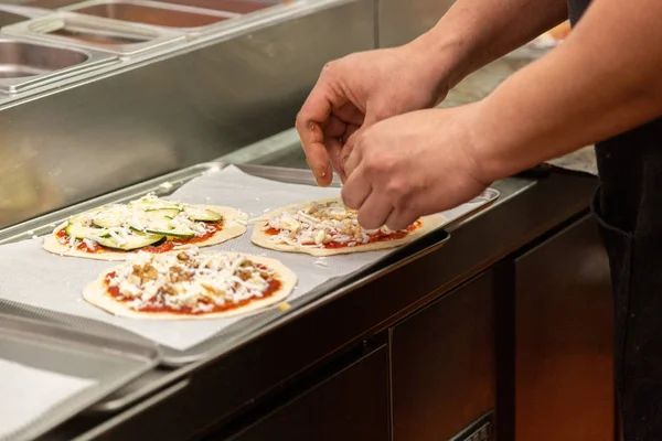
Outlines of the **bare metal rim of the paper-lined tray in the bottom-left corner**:
{"label": "bare metal rim of the paper-lined tray in the bottom-left corner", "polygon": [[[0,358],[96,381],[9,434],[34,439],[152,369],[159,351],[141,344],[81,333],[71,327],[0,314]],[[20,378],[17,379],[20,381]],[[30,383],[25,383],[25,388]],[[4,441],[4,439],[0,438]]]}

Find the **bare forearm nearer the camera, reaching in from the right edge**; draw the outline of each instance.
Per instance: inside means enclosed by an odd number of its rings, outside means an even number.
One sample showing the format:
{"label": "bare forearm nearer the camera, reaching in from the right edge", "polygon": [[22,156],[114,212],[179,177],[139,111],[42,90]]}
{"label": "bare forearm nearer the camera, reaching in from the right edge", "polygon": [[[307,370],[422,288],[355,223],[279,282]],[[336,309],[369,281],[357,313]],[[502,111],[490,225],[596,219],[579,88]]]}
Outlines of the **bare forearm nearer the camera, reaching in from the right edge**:
{"label": "bare forearm nearer the camera, reaching in from the right edge", "polygon": [[595,2],[565,43],[479,103],[481,175],[511,175],[662,115],[661,14],[656,0]]}

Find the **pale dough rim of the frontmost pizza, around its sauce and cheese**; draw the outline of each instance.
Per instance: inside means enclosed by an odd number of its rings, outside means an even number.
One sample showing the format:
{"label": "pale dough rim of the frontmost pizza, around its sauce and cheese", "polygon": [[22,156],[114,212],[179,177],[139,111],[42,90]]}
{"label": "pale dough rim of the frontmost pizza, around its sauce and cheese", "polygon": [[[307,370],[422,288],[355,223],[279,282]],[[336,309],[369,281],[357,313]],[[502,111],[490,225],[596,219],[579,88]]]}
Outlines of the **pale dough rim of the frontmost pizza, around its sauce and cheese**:
{"label": "pale dough rim of the frontmost pizza, around its sauce and cheese", "polygon": [[[132,267],[137,262],[140,262],[142,258],[142,262],[145,262],[145,256],[147,255],[142,252],[139,256],[136,256],[134,259],[126,261],[124,265],[118,266],[116,268],[104,271],[97,280],[89,283],[83,291],[83,298],[90,304],[98,306],[106,312],[109,312],[114,315],[126,316],[132,319],[143,319],[143,320],[207,320],[207,319],[221,319],[228,318],[239,314],[249,314],[258,312],[267,306],[277,304],[282,302],[295,289],[297,284],[297,276],[292,270],[287,268],[280,261],[267,257],[253,256],[247,254],[239,252],[197,252],[196,247],[189,247],[186,250],[172,251],[162,255],[150,255],[152,259],[161,259],[166,260],[167,257],[171,257],[172,255],[178,255],[181,252],[188,252],[190,256],[199,256],[200,258],[223,258],[227,256],[229,258],[243,258],[247,259],[250,262],[261,265],[267,268],[276,280],[280,282],[279,287],[268,297],[266,298],[254,298],[248,303],[239,305],[235,309],[229,309],[227,311],[221,312],[209,312],[209,313],[200,313],[200,314],[186,314],[183,312],[146,312],[139,311],[130,308],[127,302],[116,300],[108,290],[107,278],[113,272],[118,272],[121,268]],[[160,269],[163,271],[163,268]],[[217,273],[215,273],[218,277]],[[199,279],[203,280],[203,278]],[[195,283],[195,282],[192,282]],[[190,287],[190,286],[189,286]]]}

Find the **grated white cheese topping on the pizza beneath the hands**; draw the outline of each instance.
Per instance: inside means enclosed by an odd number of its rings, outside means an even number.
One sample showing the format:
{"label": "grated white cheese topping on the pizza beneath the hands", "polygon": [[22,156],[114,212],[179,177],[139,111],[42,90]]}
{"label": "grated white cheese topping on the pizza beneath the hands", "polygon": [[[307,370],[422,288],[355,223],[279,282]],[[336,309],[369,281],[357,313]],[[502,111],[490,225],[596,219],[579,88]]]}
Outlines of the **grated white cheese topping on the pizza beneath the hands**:
{"label": "grated white cheese topping on the pizza beneath the hands", "polygon": [[264,230],[275,229],[271,240],[280,244],[323,248],[328,244],[348,247],[369,244],[395,233],[383,226],[365,229],[359,224],[357,212],[344,206],[341,200],[312,202],[285,209],[267,217]]}

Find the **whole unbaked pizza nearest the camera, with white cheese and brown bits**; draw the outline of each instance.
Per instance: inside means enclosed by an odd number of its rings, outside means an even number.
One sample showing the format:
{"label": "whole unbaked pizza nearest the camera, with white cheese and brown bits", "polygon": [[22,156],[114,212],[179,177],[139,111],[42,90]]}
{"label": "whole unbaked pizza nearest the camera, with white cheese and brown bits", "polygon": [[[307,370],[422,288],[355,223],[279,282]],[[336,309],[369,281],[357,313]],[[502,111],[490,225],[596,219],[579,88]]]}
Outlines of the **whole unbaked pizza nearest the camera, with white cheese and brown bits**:
{"label": "whole unbaked pizza nearest the camera, with white cheese and brown bits", "polygon": [[115,315],[185,320],[245,314],[285,300],[296,275],[275,259],[201,252],[195,246],[138,252],[88,284],[84,299]]}

